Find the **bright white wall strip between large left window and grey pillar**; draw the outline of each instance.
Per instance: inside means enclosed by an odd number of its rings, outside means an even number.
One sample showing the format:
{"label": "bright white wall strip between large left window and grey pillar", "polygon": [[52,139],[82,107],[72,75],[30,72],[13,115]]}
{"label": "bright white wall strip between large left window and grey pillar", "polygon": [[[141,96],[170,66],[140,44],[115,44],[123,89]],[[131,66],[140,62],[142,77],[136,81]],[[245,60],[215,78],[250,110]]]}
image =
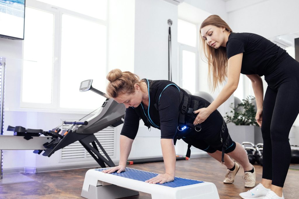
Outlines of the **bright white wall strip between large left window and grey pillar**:
{"label": "bright white wall strip between large left window and grey pillar", "polygon": [[108,3],[108,69],[134,72],[135,0]]}

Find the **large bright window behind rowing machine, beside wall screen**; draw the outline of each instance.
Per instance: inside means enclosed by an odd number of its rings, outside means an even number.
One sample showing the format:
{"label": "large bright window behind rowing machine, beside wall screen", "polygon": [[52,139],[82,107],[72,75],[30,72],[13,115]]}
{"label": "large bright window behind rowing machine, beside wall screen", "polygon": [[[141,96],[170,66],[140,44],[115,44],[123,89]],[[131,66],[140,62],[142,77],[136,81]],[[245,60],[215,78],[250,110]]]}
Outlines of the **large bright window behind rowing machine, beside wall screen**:
{"label": "large bright window behind rowing machine, beside wall screen", "polygon": [[[70,3],[71,2],[71,3]],[[107,0],[27,0],[21,107],[95,109],[105,92]]]}

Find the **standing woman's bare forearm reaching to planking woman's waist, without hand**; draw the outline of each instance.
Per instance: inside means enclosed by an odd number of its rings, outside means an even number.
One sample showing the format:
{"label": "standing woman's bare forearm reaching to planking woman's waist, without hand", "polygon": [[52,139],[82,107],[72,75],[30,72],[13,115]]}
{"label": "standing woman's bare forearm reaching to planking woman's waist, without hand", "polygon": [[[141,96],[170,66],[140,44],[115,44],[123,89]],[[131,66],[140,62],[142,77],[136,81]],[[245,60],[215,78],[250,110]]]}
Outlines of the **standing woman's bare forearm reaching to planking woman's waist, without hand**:
{"label": "standing woman's bare forearm reaching to planking woman's waist, without hand", "polygon": [[226,84],[222,90],[220,91],[217,98],[208,106],[208,110],[210,113],[215,111],[221,104],[223,104],[237,89],[236,86],[233,86],[231,84]]}

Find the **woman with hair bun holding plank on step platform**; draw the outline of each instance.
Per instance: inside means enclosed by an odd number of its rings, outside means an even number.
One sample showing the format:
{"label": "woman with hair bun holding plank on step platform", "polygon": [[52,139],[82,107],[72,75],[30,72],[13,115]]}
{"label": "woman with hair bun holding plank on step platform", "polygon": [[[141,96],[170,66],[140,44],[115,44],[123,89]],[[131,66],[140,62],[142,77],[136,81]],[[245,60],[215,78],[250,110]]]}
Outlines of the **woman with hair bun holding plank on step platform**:
{"label": "woman with hair bun holding plank on step platform", "polygon": [[[140,118],[148,127],[161,129],[161,148],[165,165],[165,173],[147,180],[149,183],[164,183],[174,180],[176,152],[174,138],[188,143],[187,158],[190,158],[190,146],[208,152],[213,158],[224,162],[227,174],[224,183],[233,183],[239,170],[239,162],[245,171],[252,170],[245,149],[232,141],[226,124],[215,110],[205,122],[196,127],[193,125],[196,114],[193,109],[207,107],[210,103],[205,99],[188,95],[183,89],[167,80],[139,80],[131,72],[115,69],[107,75],[107,97],[126,106],[123,128],[120,133],[119,165],[103,172],[118,173],[125,171],[126,161],[132,143],[137,134]],[[231,160],[234,158],[237,162]],[[245,187],[255,186],[255,173],[245,178]]]}

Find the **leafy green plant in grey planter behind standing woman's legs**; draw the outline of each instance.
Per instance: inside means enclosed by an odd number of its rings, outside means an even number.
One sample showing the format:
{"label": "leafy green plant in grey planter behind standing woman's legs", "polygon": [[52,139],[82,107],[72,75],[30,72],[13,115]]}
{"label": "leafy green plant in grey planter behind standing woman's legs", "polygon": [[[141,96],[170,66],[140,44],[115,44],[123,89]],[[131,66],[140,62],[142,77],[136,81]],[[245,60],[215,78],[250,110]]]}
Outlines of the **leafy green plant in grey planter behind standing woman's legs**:
{"label": "leafy green plant in grey planter behind standing woman's legs", "polygon": [[254,144],[262,143],[262,132],[255,121],[255,98],[246,97],[241,103],[230,105],[231,111],[224,116],[228,124],[228,132],[231,138],[239,143],[244,141]]}

